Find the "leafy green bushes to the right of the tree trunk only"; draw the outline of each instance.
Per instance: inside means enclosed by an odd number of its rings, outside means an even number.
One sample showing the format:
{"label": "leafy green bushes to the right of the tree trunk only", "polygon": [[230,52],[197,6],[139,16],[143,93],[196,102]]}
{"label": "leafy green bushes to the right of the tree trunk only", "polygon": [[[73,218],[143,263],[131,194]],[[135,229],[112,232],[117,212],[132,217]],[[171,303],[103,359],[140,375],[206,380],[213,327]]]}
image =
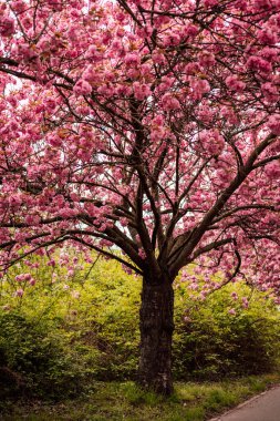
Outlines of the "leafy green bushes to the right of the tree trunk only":
{"label": "leafy green bushes to the right of the tree trunk only", "polygon": [[217,379],[269,372],[276,367],[280,315],[266,295],[255,290],[248,308],[242,308],[242,299],[237,298],[251,295],[241,284],[228,285],[195,304],[186,295],[184,290],[186,299],[176,310],[177,377]]}

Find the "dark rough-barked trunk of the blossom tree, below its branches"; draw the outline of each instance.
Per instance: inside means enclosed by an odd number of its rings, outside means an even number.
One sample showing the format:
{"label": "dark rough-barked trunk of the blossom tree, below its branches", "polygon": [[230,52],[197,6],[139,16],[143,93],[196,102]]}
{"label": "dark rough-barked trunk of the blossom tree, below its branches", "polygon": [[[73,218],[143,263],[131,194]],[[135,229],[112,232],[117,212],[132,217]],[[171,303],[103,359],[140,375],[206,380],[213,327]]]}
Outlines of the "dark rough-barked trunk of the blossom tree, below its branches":
{"label": "dark rough-barked trunk of the blossom tree, below its branches", "polygon": [[138,383],[169,396],[172,380],[172,338],[174,291],[170,279],[143,280],[141,307],[141,359]]}

